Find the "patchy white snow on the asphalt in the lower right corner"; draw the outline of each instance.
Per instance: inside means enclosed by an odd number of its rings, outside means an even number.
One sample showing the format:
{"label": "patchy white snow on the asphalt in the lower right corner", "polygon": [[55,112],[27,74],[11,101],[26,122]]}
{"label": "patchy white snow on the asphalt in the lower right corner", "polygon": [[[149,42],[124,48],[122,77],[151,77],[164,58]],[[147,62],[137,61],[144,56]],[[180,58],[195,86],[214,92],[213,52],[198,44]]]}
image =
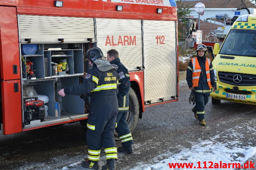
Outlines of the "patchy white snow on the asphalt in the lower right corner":
{"label": "patchy white snow on the asphalt in the lower right corner", "polygon": [[[246,142],[241,142],[241,138],[243,134],[239,133],[242,127],[237,126],[227,131],[221,132],[218,135],[210,138],[209,140],[200,140],[199,143],[193,143],[192,147],[185,148],[179,153],[170,155],[167,159],[164,159],[156,164],[153,164],[147,168],[145,166],[148,165],[140,165],[138,167],[133,168],[132,170],[139,170],[144,167],[144,170],[166,170],[166,169],[178,169],[178,168],[170,168],[169,163],[194,163],[192,168],[182,168],[182,169],[208,169],[203,168],[209,167],[211,164],[208,161],[213,162],[213,166],[215,163],[218,163],[220,166],[220,161],[222,165],[224,163],[240,163],[241,165],[246,163],[246,161],[253,157],[256,154],[256,146],[250,146],[252,143],[249,141],[255,142],[256,136],[256,128],[255,128],[256,119],[253,119],[246,123],[241,123],[247,126],[246,130],[248,133],[251,134],[252,138],[247,140]],[[254,126],[251,126],[254,125]],[[254,128],[251,128],[254,127]],[[219,141],[223,142],[216,142],[215,140],[218,138]],[[170,153],[171,154],[171,153]],[[202,168],[198,168],[197,162],[200,161],[200,166]],[[203,162],[206,161],[206,164]],[[254,162],[255,163],[255,162]],[[254,165],[256,167],[256,165]],[[180,168],[181,169],[181,168]],[[212,169],[212,168],[209,168]],[[216,167],[213,169],[217,169]],[[219,167],[219,169],[221,169]],[[223,170],[233,169],[232,166],[230,168],[222,168]]]}

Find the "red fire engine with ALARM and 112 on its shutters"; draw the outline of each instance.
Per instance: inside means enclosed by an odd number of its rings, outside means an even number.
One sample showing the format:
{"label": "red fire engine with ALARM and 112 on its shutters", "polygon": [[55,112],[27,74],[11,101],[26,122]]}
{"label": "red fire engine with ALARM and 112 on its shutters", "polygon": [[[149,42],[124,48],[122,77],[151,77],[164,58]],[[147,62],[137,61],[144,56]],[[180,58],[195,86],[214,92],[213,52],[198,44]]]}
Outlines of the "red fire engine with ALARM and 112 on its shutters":
{"label": "red fire engine with ALARM and 112 on its shutters", "polygon": [[129,70],[131,131],[145,107],[178,100],[174,0],[0,0],[0,16],[3,134],[85,121],[83,98],[58,91],[81,82],[96,46]]}

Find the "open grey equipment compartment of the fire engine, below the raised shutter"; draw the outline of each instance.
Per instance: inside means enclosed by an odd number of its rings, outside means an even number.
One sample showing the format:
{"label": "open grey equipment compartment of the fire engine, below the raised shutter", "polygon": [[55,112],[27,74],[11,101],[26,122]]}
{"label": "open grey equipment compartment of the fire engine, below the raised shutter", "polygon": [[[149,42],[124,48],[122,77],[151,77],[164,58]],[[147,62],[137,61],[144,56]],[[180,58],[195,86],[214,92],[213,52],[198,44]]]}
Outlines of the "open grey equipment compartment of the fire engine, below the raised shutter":
{"label": "open grey equipment compartment of the fire engine, below the raised shutter", "polygon": [[[21,44],[21,46],[24,46],[24,44]],[[45,106],[48,107],[48,110],[45,110],[47,114],[41,121],[33,119],[27,122],[27,109],[23,107],[24,129],[70,120],[67,114],[72,119],[86,117],[83,99],[75,95],[69,95],[64,98],[58,95],[59,90],[79,84],[79,76],[83,75],[82,43],[50,43],[36,44],[36,46],[37,51],[35,54],[21,54],[25,61],[29,59],[29,61],[33,62],[35,67],[33,72],[36,76],[35,79],[30,79],[26,74],[27,66],[21,60],[22,87],[23,89],[33,87],[37,94],[47,96],[48,102],[45,103]],[[59,50],[54,50],[58,48]],[[62,54],[58,55],[59,53]],[[45,64],[45,59],[47,59],[47,64]],[[55,64],[51,63],[58,63],[59,60],[63,59],[67,59],[69,71],[61,71],[58,74],[63,74],[55,75],[56,72],[53,70]],[[27,96],[25,94],[26,91],[23,90],[23,102],[25,101],[25,96]]]}

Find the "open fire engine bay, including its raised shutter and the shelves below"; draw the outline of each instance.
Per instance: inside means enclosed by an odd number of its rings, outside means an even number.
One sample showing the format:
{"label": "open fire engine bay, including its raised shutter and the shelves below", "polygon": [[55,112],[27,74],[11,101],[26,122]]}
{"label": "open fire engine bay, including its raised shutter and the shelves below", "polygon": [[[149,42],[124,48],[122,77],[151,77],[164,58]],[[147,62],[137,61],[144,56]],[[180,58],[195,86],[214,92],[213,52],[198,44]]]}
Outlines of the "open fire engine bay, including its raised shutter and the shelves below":
{"label": "open fire engine bay, including its raised shutter and the shelves below", "polygon": [[[25,101],[24,88],[32,86],[37,94],[48,97],[44,119],[32,120],[31,115],[38,114],[35,113],[37,110],[22,108],[23,129],[70,121],[67,114],[72,119],[87,117],[80,96],[63,98],[58,91],[79,85],[84,72],[83,51],[87,51],[91,47],[89,42],[95,40],[94,19],[20,14],[18,27],[22,100]],[[36,52],[30,54],[33,48]]]}

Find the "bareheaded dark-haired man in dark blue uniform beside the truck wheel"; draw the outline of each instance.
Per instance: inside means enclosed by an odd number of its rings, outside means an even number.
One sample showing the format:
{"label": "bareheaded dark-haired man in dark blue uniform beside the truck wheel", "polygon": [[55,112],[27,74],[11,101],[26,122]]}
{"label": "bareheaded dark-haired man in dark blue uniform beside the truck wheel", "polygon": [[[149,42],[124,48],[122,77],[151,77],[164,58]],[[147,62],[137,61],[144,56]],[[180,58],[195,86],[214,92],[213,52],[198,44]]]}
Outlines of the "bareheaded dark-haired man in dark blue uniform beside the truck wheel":
{"label": "bareheaded dark-haired man in dark blue uniform beside the truck wheel", "polygon": [[131,86],[130,75],[124,64],[121,63],[118,51],[116,51],[115,49],[108,50],[107,59],[111,64],[116,64],[118,66],[117,73],[120,83],[117,93],[118,114],[116,118],[116,132],[121,139],[122,147],[118,147],[117,151],[132,153],[133,139],[126,121],[126,114],[129,110],[129,89]]}

